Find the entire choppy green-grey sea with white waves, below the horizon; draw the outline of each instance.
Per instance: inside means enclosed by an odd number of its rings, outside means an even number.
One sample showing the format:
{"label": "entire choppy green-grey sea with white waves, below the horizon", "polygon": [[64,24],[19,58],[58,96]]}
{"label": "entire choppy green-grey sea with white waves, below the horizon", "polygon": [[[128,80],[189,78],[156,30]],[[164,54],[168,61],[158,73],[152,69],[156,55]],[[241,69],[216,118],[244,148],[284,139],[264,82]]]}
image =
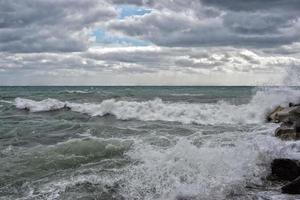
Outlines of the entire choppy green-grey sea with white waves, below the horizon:
{"label": "entire choppy green-grey sea with white waves, below the horizon", "polygon": [[293,87],[0,87],[0,199],[268,200]]}

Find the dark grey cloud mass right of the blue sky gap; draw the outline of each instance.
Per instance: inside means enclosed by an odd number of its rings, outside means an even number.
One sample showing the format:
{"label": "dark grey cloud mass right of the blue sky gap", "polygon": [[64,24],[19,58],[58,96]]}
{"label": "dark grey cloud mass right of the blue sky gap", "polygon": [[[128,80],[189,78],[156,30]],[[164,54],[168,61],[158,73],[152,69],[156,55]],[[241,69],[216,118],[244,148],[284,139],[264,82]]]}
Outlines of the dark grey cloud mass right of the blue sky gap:
{"label": "dark grey cloud mass right of the blue sky gap", "polygon": [[[289,5],[285,5],[289,4]],[[273,47],[300,40],[300,1],[163,0],[108,28],[161,46]]]}

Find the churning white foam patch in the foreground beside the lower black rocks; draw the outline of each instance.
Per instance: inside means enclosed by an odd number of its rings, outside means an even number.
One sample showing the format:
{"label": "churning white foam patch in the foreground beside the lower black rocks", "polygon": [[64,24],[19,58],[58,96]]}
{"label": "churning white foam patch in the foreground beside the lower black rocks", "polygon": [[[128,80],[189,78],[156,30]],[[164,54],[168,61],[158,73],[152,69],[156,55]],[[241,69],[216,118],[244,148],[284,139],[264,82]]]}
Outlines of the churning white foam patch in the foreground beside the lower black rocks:
{"label": "churning white foam patch in the foreground beside the lower black rocks", "polygon": [[136,143],[127,155],[139,164],[128,167],[123,195],[149,200],[245,196],[246,185],[262,184],[261,178],[268,174],[277,142],[268,136],[232,142],[234,146],[196,147],[180,138],[168,149]]}

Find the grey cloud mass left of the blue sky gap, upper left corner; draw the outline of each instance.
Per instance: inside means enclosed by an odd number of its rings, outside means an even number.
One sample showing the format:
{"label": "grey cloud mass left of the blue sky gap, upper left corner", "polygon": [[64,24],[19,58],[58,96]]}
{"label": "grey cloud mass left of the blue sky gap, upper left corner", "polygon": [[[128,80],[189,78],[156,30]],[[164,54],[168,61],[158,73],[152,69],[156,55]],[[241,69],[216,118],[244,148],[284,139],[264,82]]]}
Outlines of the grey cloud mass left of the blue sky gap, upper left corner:
{"label": "grey cloud mass left of the blue sky gap, upper left corner", "polygon": [[97,0],[1,0],[0,51],[83,51],[87,30],[115,16]]}

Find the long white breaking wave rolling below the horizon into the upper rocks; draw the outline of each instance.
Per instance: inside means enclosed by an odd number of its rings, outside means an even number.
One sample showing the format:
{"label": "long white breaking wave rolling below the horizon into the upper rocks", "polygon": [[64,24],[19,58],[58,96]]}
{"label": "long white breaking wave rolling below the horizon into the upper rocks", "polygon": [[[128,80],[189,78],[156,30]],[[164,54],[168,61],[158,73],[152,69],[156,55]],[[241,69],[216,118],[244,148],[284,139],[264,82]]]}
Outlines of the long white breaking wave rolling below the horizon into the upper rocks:
{"label": "long white breaking wave rolling below the horizon into the upper rocks", "polygon": [[164,102],[161,99],[149,101],[104,100],[101,103],[62,102],[57,99],[34,101],[16,98],[19,109],[31,112],[52,111],[69,108],[90,116],[114,115],[120,120],[170,121],[196,124],[253,124],[262,123],[265,113],[278,104],[298,102],[299,90],[273,88],[259,90],[248,104],[234,105],[225,101],[211,103]]}

